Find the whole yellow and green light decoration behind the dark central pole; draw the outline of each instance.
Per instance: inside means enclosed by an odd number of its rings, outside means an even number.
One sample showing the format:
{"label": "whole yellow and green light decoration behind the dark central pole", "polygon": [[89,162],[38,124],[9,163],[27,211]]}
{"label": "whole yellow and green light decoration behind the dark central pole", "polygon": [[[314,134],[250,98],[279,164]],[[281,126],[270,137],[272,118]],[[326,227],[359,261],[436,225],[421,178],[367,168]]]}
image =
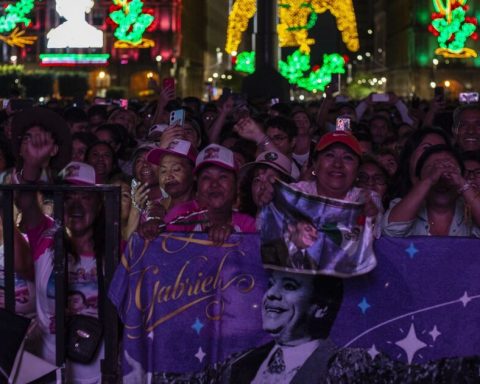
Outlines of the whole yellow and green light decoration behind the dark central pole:
{"label": "whole yellow and green light decoration behind the dark central pole", "polygon": [[[326,11],[336,18],[342,39],[351,51],[359,49],[355,12],[351,0],[278,0],[279,24],[277,32],[281,47],[299,47],[286,61],[279,62],[279,70],[291,84],[309,91],[323,91],[331,82],[332,74],[345,73],[345,58],[333,53],[324,55],[322,67],[310,64],[310,46],[315,40],[308,31],[315,25],[318,14]],[[256,1],[237,0],[230,12],[225,51],[234,57],[237,71],[253,73],[253,52],[237,54],[248,21],[255,15]],[[308,71],[310,71],[308,73]]]}

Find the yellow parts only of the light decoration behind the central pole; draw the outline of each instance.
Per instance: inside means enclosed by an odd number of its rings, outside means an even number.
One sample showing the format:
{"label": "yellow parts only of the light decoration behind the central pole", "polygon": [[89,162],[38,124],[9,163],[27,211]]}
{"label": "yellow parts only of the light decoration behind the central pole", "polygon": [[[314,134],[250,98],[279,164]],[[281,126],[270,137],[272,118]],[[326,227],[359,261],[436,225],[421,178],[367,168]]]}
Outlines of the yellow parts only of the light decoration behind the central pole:
{"label": "yellow parts only of the light decoration behind the central pole", "polygon": [[[308,37],[308,29],[315,23],[316,14],[330,11],[335,17],[337,29],[347,48],[358,51],[357,22],[353,8],[353,0],[278,0],[280,23],[277,26],[281,47],[299,47],[302,53],[310,52],[310,45],[315,40]],[[255,15],[256,2],[237,0],[228,18],[227,43],[225,51],[232,53],[238,50],[242,34],[249,20]]]}

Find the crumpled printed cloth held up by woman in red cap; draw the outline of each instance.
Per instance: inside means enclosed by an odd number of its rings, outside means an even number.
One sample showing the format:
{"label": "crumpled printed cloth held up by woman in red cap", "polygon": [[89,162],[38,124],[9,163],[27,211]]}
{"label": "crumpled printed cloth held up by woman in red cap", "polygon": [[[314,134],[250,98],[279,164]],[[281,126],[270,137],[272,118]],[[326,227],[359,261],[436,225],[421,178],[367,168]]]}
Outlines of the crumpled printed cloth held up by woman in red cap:
{"label": "crumpled printed cloth held up by woman in red cap", "polygon": [[371,271],[373,222],[363,203],[312,196],[275,183],[275,198],[261,212],[266,267],[351,277]]}

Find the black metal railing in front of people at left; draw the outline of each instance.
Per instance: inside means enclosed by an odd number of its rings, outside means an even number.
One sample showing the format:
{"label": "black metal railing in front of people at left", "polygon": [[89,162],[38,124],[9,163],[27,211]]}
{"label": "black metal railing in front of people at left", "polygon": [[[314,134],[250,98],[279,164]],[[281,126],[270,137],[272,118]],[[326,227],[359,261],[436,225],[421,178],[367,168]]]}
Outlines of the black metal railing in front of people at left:
{"label": "black metal railing in front of people at left", "polygon": [[[15,312],[14,281],[14,241],[13,241],[13,202],[15,192],[52,192],[54,202],[55,232],[54,267],[55,276],[55,326],[56,326],[56,365],[65,366],[65,246],[63,200],[65,192],[97,192],[104,197],[105,206],[105,254],[103,325],[105,356],[101,362],[102,383],[117,382],[118,368],[118,318],[113,304],[106,298],[120,255],[120,187],[104,186],[68,186],[68,185],[0,185],[3,201],[3,234],[4,234],[4,273],[5,273],[5,308]],[[101,273],[101,271],[99,271]],[[62,370],[63,371],[63,370]],[[64,375],[62,374],[64,377]]]}

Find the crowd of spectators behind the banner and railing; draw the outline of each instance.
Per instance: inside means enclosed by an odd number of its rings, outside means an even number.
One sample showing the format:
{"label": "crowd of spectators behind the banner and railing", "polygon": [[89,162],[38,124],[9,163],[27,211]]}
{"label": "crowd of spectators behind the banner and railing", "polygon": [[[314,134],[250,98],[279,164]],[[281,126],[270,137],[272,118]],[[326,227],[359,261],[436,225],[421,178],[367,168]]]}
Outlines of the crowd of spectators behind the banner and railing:
{"label": "crowd of spectators behind the banner and railing", "polygon": [[[308,103],[236,93],[206,103],[164,89],[129,109],[53,102],[7,108],[0,179],[119,186],[122,245],[135,232],[153,239],[199,231],[221,244],[232,233],[260,231],[277,179],[306,194],[363,202],[377,236],[479,237],[480,105],[393,93],[387,102],[373,100],[345,101],[327,90]],[[177,110],[185,119],[170,124]],[[16,208],[17,295],[22,290],[31,304],[17,310],[36,318],[40,342],[32,348],[52,361],[51,196],[23,192]],[[98,315],[103,220],[99,195],[65,196],[67,313]],[[302,241],[308,236],[315,234]],[[89,365],[71,364],[69,382],[97,382],[101,353]]]}

